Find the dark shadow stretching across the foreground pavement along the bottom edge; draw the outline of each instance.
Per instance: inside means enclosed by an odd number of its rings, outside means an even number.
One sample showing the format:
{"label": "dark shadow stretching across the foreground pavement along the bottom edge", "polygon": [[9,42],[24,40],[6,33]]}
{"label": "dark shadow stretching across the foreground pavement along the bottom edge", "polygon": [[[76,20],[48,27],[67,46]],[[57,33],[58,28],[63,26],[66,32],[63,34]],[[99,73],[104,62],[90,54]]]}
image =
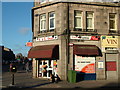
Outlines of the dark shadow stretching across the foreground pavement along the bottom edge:
{"label": "dark shadow stretching across the foreground pavement along the bottom edge", "polygon": [[33,89],[33,90],[41,90],[41,89],[43,89],[43,90],[58,90],[58,89],[68,89],[68,90],[70,90],[70,89],[73,89],[73,90],[75,90],[75,89],[77,89],[77,90],[98,90],[98,89],[102,89],[102,90],[104,90],[104,89],[117,89],[117,90],[119,90],[120,89],[120,86],[119,85],[116,85],[115,83],[109,83],[109,84],[106,84],[106,85],[104,85],[104,86],[101,86],[101,87],[93,87],[93,88],[87,88],[87,87],[81,87],[81,86],[76,86],[76,87],[73,87],[73,88],[69,88],[69,87],[67,87],[67,88],[64,88],[64,87],[62,87],[62,88],[49,88],[49,87],[47,87],[47,88],[36,88],[36,87],[40,87],[40,86],[43,86],[43,85],[48,85],[48,84],[51,84],[52,82],[48,82],[48,83],[43,83],[43,84],[38,84],[38,85],[34,85],[34,86],[29,86],[29,87],[23,87],[23,88],[20,88],[20,87],[8,87],[8,88],[3,88],[2,90],[21,90],[21,89]]}

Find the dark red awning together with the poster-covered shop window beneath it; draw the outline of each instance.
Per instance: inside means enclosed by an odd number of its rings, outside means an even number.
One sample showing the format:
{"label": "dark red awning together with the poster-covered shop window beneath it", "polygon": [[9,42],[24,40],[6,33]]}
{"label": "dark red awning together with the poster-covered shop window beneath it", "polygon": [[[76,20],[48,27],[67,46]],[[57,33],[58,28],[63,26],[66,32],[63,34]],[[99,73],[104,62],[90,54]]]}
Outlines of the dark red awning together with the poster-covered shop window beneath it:
{"label": "dark red awning together with the poster-covered shop window beneath it", "polygon": [[96,45],[74,45],[74,69],[77,80],[96,80],[96,56],[101,56]]}

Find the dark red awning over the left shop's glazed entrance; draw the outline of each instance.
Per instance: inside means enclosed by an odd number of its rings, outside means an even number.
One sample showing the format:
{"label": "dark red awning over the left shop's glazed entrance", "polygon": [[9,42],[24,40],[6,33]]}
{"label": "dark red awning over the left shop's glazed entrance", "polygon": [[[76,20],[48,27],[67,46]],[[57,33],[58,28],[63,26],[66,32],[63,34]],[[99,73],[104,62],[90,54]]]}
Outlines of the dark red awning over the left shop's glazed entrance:
{"label": "dark red awning over the left shop's glazed entrance", "polygon": [[44,45],[32,47],[28,58],[59,59],[59,45]]}

